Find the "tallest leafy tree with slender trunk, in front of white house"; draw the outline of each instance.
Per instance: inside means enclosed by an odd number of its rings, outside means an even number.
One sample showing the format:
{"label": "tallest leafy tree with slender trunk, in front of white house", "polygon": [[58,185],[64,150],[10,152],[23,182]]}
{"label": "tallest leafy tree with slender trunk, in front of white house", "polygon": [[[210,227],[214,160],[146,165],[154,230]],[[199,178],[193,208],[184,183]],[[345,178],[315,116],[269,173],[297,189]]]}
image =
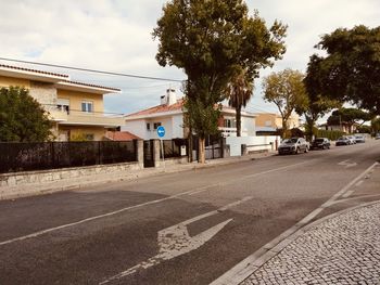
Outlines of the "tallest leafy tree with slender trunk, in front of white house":
{"label": "tallest leafy tree with slender trunk, in front of white house", "polygon": [[268,29],[257,12],[248,15],[242,0],[172,0],[163,12],[153,30],[160,40],[156,60],[188,76],[185,106],[204,163],[205,137],[217,131],[217,106],[228,82],[242,68],[253,81],[259,68],[281,59],[287,28],[276,21]]}

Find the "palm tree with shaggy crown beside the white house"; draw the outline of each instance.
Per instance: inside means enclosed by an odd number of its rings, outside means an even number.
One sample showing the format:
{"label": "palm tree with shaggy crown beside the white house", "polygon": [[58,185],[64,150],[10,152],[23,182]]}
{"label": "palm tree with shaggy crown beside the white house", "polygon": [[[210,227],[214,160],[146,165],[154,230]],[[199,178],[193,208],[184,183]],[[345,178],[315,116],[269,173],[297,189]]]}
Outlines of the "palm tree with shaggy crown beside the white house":
{"label": "palm tree with shaggy crown beside the white house", "polygon": [[227,87],[228,105],[236,109],[237,137],[241,137],[241,109],[246,106],[253,94],[253,83],[242,69]]}

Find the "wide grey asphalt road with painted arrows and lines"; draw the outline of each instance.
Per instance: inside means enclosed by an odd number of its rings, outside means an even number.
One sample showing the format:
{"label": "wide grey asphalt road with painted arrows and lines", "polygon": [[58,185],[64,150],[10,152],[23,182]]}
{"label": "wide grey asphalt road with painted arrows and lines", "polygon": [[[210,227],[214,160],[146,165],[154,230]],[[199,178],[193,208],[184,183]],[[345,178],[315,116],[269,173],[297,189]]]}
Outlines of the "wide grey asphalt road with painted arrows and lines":
{"label": "wide grey asphalt road with painted arrows and lines", "polygon": [[[0,284],[210,284],[377,160],[368,141],[3,200]],[[380,199],[365,186],[313,220]]]}

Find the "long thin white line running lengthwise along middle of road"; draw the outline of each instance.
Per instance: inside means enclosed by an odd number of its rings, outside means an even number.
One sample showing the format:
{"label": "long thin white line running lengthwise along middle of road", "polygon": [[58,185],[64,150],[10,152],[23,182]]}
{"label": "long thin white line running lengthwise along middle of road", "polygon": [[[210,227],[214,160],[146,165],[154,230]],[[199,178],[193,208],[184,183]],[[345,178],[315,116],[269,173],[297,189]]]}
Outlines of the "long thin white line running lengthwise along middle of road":
{"label": "long thin white line running lengthwise along middle of road", "polygon": [[90,217],[90,218],[87,218],[87,219],[84,219],[84,220],[79,220],[79,221],[76,221],[76,222],[62,224],[62,225],[59,225],[59,226],[54,226],[54,228],[46,229],[46,230],[38,231],[38,232],[31,233],[31,234],[27,234],[27,235],[24,235],[24,236],[18,236],[18,237],[15,237],[15,238],[3,241],[3,242],[0,242],[0,246],[12,244],[12,243],[15,243],[15,242],[21,242],[21,241],[33,238],[33,237],[37,237],[37,236],[40,236],[40,235],[43,235],[43,234],[47,234],[47,233],[51,233],[51,232],[54,232],[54,231],[59,231],[59,230],[63,230],[63,229],[66,229],[66,228],[75,226],[75,225],[83,224],[83,223],[86,223],[86,222],[91,222],[91,221],[99,220],[99,219],[102,219],[102,218],[111,217],[111,216],[114,216],[114,215],[117,215],[117,213],[121,213],[121,212],[124,212],[124,211],[138,209],[138,208],[141,208],[141,207],[144,207],[144,206],[150,206],[150,205],[154,205],[154,204],[157,204],[157,203],[166,202],[166,200],[174,199],[174,198],[177,198],[177,197],[180,197],[180,196],[199,194],[201,192],[207,191],[208,189],[215,187],[217,185],[235,183],[236,181],[241,180],[241,179],[257,177],[257,176],[262,176],[262,174],[267,174],[267,173],[270,173],[270,172],[275,172],[275,171],[288,169],[288,168],[291,168],[291,167],[304,165],[304,164],[311,163],[313,160],[315,160],[315,159],[307,160],[307,161],[304,161],[304,163],[297,163],[297,164],[293,164],[293,165],[289,165],[289,166],[284,166],[284,167],[279,167],[279,168],[266,170],[266,171],[254,173],[254,174],[249,174],[249,176],[245,176],[245,177],[242,177],[242,178],[239,178],[239,179],[233,179],[231,181],[224,182],[224,183],[217,183],[217,184],[213,184],[213,185],[205,185],[205,186],[201,186],[201,187],[195,187],[195,189],[192,189],[192,190],[189,190],[189,191],[186,191],[186,192],[182,192],[182,193],[178,193],[178,194],[165,197],[165,198],[150,200],[150,202],[147,202],[147,203],[142,203],[142,204],[125,207],[125,208],[122,208],[122,209],[118,209],[118,210],[115,210],[115,211],[111,211],[111,212],[106,212],[106,213],[103,213],[103,215],[93,216],[93,217]]}

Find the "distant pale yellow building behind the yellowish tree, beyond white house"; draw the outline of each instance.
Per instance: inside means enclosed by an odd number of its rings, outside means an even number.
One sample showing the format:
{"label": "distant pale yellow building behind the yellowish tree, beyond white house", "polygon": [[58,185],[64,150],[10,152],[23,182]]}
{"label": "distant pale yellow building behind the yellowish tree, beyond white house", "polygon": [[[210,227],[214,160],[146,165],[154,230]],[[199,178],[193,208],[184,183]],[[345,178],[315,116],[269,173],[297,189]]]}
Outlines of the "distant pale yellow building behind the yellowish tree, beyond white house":
{"label": "distant pale yellow building behind the yellowish tree, beyond white house", "polygon": [[[261,129],[282,129],[282,117],[276,113],[256,113],[256,131]],[[300,127],[300,116],[292,114],[288,119],[288,129]]]}

